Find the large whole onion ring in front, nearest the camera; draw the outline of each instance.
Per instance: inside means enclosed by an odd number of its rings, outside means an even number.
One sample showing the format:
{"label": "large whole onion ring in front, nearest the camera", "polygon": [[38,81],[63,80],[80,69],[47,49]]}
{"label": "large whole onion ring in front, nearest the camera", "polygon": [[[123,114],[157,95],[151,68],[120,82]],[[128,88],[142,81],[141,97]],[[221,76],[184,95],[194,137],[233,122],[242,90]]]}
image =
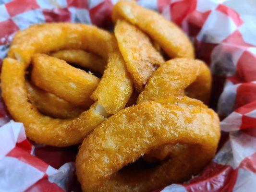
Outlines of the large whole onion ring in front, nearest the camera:
{"label": "large whole onion ring in front, nearest the camera", "polygon": [[[197,174],[214,156],[217,114],[200,101],[165,98],[120,110],[85,138],[76,158],[86,192],[148,192]],[[154,148],[171,144],[171,159],[150,169],[121,170]]]}

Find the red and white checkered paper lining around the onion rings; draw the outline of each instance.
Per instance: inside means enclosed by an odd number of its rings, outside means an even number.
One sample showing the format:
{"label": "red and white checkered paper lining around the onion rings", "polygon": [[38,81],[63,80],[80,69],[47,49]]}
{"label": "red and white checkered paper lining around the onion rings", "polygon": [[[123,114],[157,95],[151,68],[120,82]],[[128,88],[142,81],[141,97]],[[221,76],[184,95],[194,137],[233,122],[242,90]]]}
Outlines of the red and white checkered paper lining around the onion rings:
{"label": "red and white checkered paper lining around the onion rings", "polygon": [[[0,0],[0,62],[15,32],[31,24],[73,22],[111,28],[116,1]],[[197,58],[211,67],[211,107],[217,106],[223,119],[219,151],[213,161],[188,182],[158,192],[254,192],[256,1],[137,1],[179,24],[191,37]],[[10,119],[0,102],[0,191],[80,191],[73,175],[77,147],[33,145],[26,139],[22,123],[7,123]]]}

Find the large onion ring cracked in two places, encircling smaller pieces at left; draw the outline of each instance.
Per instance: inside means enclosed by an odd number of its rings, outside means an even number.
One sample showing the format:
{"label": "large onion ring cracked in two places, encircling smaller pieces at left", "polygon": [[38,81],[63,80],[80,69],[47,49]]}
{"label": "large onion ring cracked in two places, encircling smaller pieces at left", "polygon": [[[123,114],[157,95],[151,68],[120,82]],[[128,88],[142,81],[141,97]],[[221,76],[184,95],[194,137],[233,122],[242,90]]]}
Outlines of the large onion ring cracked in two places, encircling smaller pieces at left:
{"label": "large onion ring cracked in two places, encircling smaller pieces at left", "polygon": [[[75,119],[52,119],[41,115],[28,102],[25,70],[34,54],[66,48],[94,52],[107,61],[107,68],[91,96],[97,102],[90,109]],[[13,119],[24,123],[28,138],[39,144],[69,146],[80,143],[105,120],[105,116],[124,108],[132,94],[132,82],[114,36],[95,26],[61,23],[31,26],[16,34],[8,57],[17,60],[7,58],[3,62],[3,99]]]}

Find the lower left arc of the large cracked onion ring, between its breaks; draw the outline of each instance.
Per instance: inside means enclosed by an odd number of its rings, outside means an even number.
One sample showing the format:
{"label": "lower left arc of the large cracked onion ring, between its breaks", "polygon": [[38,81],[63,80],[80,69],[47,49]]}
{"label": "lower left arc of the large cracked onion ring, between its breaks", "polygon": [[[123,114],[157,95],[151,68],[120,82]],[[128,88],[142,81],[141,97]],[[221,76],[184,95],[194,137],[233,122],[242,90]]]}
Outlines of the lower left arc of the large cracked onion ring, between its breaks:
{"label": "lower left arc of the large cracked onion ring, between its breaks", "polygon": [[74,119],[61,120],[44,116],[28,102],[25,65],[17,60],[3,60],[1,72],[2,97],[16,121],[23,122],[26,136],[38,144],[69,146],[79,144],[88,132],[105,120],[95,108]]}

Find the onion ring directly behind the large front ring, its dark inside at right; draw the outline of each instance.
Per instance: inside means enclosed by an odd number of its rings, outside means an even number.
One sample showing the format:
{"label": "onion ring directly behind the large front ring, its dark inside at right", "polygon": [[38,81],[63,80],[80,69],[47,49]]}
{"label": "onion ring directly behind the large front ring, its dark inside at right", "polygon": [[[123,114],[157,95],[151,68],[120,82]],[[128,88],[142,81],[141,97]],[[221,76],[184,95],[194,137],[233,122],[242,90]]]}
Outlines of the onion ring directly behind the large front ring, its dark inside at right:
{"label": "onion ring directly behind the large front ring, its dark inside at right", "polygon": [[154,72],[137,103],[187,95],[207,104],[210,93],[211,73],[207,65],[201,60],[177,58],[166,61]]}

